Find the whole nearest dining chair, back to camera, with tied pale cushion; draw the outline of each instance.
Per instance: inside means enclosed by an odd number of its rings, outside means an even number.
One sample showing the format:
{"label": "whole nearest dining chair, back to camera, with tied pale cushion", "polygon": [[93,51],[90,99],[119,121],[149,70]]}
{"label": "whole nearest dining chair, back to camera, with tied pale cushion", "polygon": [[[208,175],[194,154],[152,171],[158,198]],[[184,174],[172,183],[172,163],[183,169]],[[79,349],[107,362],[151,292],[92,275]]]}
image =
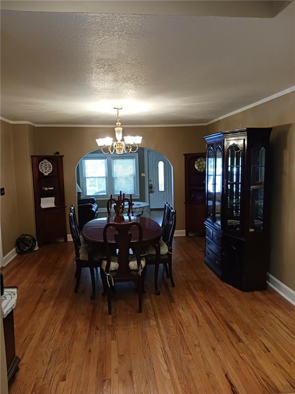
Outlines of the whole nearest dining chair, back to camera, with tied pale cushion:
{"label": "whole nearest dining chair, back to camera, with tied pale cushion", "polygon": [[[133,234],[131,230],[135,231],[136,228],[138,237],[136,237],[136,241],[133,240],[132,242]],[[114,243],[110,242],[110,234],[114,236],[118,248],[116,256],[111,255]],[[107,294],[108,296],[108,313],[112,313],[111,289],[117,282],[134,282],[137,284],[138,312],[141,313],[146,265],[144,258],[140,256],[142,244],[140,224],[137,222],[108,223],[103,229],[103,242],[107,259],[101,263],[100,274],[104,289],[102,295]],[[136,251],[135,254],[130,254],[131,243]]]}

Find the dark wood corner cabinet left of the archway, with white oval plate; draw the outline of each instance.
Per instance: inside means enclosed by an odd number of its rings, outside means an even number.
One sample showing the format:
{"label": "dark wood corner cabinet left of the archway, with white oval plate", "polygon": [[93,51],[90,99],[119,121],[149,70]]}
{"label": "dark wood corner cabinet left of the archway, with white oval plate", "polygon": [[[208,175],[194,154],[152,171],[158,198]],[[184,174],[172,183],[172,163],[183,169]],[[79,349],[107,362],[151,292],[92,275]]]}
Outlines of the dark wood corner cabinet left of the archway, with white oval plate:
{"label": "dark wood corner cabinet left of the archway, with white oval plate", "polygon": [[38,246],[67,241],[63,156],[32,156]]}

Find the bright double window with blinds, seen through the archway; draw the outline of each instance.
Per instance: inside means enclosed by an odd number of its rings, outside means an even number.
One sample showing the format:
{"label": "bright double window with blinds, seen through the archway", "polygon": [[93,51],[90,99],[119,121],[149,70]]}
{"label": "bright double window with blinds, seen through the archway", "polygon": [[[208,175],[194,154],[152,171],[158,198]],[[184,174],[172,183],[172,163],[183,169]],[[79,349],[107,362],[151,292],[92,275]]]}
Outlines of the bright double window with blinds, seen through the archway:
{"label": "bright double window with blinds, seen through the archway", "polygon": [[79,163],[81,189],[85,196],[106,200],[122,191],[139,198],[138,154],[90,153]]}

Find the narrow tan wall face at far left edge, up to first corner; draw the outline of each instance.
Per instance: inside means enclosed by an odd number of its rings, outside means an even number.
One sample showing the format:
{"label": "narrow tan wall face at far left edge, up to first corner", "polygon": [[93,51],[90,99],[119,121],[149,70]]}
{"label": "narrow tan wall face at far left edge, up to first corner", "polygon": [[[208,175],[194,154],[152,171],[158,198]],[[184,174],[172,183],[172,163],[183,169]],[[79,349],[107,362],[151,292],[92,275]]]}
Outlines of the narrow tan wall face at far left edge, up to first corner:
{"label": "narrow tan wall face at far left edge, up to first corner", "polygon": [[1,187],[5,195],[1,196],[1,232],[3,254],[10,252],[15,246],[18,236],[17,199],[14,174],[14,156],[12,142],[12,127],[1,121]]}

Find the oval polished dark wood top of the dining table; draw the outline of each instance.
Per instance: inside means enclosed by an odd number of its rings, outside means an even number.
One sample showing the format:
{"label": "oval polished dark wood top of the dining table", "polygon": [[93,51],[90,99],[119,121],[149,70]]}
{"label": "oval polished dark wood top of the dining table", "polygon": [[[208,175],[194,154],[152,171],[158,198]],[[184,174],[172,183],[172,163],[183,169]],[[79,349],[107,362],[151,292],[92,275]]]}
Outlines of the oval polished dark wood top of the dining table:
{"label": "oval polished dark wood top of the dining table", "polygon": [[[142,242],[157,242],[162,235],[162,227],[153,219],[144,218],[142,216],[111,216],[110,218],[94,219],[86,223],[82,229],[82,237],[88,242],[103,242],[103,228],[107,223],[127,223],[127,222],[138,222],[142,227]],[[109,242],[114,241],[115,230],[110,228],[109,230]],[[136,241],[138,239],[138,229],[134,226],[131,228],[132,239]]]}

